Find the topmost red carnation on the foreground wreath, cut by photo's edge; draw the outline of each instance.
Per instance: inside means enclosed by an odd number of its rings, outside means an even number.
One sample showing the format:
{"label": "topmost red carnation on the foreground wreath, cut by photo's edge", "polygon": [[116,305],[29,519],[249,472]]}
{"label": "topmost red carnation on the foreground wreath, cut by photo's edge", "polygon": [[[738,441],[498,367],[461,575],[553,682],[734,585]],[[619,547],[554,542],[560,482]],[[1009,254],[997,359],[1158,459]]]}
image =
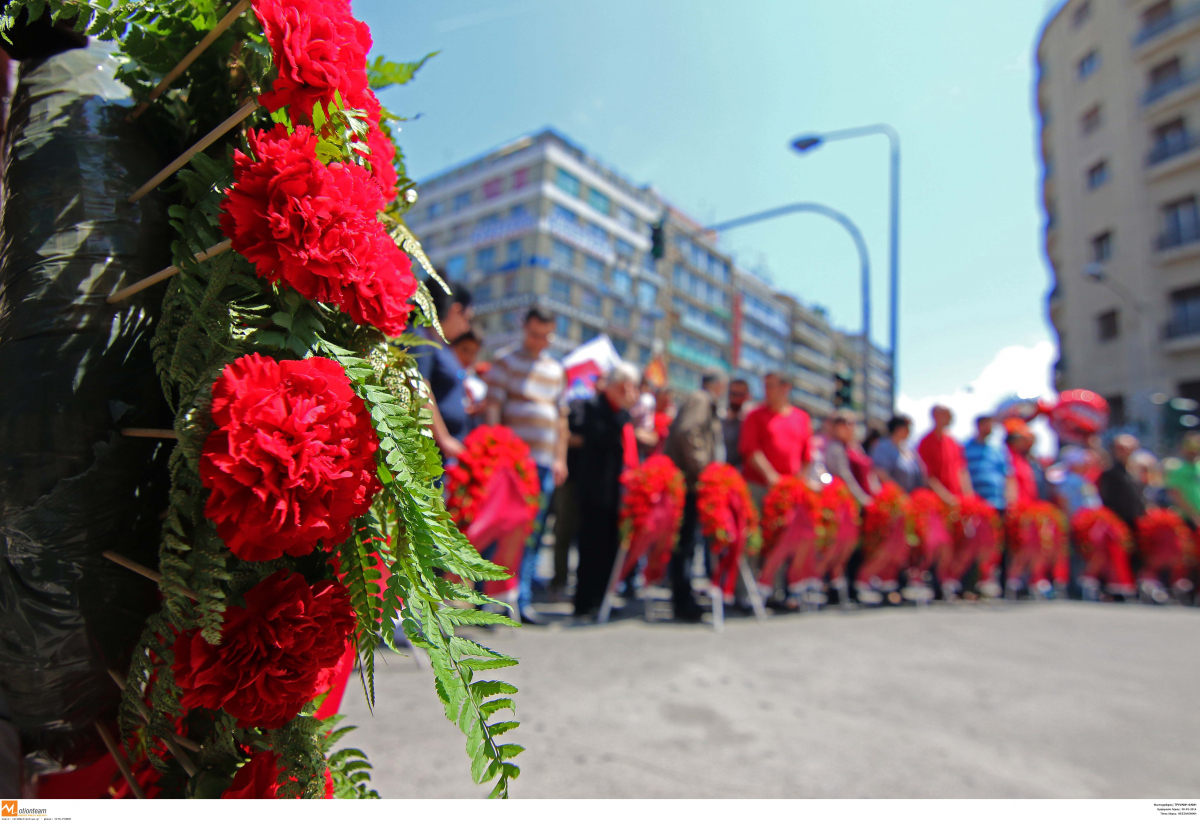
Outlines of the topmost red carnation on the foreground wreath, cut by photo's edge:
{"label": "topmost red carnation on the foreground wreath, cut by photo's edge", "polygon": [[377,119],[379,103],[367,85],[371,29],[354,19],[348,0],[254,0],[278,72],[259,97],[270,110],[288,107],[294,122],[308,122],[320,102],[341,92],[348,108]]}

